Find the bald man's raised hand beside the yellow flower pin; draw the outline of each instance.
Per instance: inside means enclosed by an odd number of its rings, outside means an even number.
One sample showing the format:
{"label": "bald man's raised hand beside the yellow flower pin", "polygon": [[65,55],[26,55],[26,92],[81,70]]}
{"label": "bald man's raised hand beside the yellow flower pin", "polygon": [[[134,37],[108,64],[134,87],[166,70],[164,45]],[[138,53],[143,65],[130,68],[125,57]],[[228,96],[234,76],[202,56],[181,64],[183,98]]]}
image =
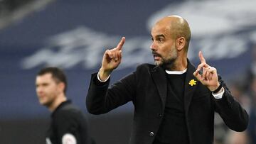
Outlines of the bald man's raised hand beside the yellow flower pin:
{"label": "bald man's raised hand beside the yellow flower pin", "polygon": [[[198,57],[200,58],[201,64],[198,65],[197,70],[193,75],[198,79],[198,81],[213,92],[220,85],[218,82],[217,70],[206,63],[201,51],[198,52]],[[199,73],[200,71],[202,72],[201,74]]]}

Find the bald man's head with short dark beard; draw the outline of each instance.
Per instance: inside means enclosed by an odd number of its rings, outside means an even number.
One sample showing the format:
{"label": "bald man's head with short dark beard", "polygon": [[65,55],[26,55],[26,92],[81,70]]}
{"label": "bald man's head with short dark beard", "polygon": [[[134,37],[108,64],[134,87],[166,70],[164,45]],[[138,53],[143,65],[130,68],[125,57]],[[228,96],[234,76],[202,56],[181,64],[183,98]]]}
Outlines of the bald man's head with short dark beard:
{"label": "bald man's head with short dark beard", "polygon": [[151,37],[151,50],[156,65],[169,67],[178,57],[186,57],[191,31],[184,18],[167,16],[156,22]]}

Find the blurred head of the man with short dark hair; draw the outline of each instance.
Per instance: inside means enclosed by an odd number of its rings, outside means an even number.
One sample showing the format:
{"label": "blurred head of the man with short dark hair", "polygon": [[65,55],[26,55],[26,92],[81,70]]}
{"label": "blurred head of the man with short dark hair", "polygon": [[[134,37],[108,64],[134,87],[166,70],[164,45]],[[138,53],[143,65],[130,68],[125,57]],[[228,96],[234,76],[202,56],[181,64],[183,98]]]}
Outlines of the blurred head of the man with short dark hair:
{"label": "blurred head of the man with short dark hair", "polygon": [[36,76],[36,94],[40,104],[51,107],[60,96],[65,96],[67,80],[62,70],[57,67],[46,67]]}

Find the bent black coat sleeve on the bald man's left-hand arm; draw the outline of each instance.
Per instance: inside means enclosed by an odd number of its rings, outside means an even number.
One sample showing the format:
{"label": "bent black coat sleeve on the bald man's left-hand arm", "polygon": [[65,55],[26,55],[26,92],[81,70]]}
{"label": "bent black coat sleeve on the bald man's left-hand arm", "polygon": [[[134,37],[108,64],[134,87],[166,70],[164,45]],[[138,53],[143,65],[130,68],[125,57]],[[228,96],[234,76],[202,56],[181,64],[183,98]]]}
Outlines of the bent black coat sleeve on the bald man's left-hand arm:
{"label": "bent black coat sleeve on the bald man's left-hand arm", "polygon": [[90,87],[86,97],[86,106],[89,113],[107,113],[112,109],[132,101],[136,94],[135,74],[129,74],[119,82],[115,82],[110,88],[110,79],[99,84],[97,73],[92,74]]}

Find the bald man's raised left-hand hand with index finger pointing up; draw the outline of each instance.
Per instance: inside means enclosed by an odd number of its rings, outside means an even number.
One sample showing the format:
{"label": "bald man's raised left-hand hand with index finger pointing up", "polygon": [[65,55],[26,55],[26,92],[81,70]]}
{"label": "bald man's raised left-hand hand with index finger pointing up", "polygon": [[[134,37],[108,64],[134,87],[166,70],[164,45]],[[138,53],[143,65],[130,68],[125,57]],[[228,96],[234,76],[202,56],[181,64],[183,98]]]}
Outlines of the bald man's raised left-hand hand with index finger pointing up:
{"label": "bald man's raised left-hand hand with index finger pointing up", "polygon": [[122,46],[125,38],[122,37],[116,48],[106,50],[102,58],[102,67],[100,67],[100,79],[105,81],[111,72],[118,67],[122,60]]}

